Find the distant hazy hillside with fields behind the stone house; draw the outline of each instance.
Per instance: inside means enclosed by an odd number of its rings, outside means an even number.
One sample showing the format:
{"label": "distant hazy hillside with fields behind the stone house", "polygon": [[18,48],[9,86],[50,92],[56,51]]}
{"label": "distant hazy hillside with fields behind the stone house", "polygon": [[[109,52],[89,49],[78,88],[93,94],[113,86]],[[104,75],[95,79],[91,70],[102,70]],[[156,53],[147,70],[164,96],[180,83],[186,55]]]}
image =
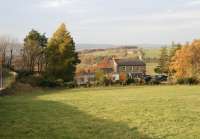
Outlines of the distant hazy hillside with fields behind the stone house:
{"label": "distant hazy hillside with fields behind the stone house", "polygon": [[90,67],[103,59],[111,57],[117,58],[133,58],[137,59],[140,48],[145,54],[145,62],[147,64],[147,74],[155,74],[154,69],[157,66],[160,56],[160,48],[163,45],[139,44],[139,45],[108,45],[108,44],[78,44],[77,51],[81,63],[78,68]]}

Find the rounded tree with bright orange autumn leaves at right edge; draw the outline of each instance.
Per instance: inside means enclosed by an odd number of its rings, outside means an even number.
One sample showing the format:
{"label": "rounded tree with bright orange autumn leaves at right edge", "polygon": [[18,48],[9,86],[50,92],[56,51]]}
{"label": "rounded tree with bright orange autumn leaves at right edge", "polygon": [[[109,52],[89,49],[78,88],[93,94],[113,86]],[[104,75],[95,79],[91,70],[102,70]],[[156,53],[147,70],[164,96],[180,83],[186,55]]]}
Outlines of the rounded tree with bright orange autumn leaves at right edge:
{"label": "rounded tree with bright orange autumn leaves at right edge", "polygon": [[176,51],[170,63],[170,72],[174,79],[200,79],[200,40],[194,40]]}

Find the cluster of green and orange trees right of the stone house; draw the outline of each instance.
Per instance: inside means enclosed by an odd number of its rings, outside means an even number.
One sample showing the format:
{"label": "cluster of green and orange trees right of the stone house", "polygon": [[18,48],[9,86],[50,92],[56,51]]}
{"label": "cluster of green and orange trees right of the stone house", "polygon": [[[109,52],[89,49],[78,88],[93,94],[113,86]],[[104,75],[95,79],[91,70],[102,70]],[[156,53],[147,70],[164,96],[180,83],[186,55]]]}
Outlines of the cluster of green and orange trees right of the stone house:
{"label": "cluster of green and orange trees right of the stone house", "polygon": [[200,40],[184,45],[173,44],[170,50],[163,47],[155,71],[167,74],[170,81],[200,81]]}

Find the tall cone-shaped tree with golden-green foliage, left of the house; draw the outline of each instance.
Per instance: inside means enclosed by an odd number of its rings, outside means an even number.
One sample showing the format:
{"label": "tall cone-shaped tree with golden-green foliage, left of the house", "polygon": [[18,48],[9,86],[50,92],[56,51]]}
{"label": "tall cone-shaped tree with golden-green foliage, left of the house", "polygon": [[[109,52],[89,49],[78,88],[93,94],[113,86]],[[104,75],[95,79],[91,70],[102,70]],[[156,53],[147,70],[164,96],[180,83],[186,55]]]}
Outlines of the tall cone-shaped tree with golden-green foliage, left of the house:
{"label": "tall cone-shaped tree with golden-green foliage, left of the house", "polygon": [[75,43],[65,24],[61,24],[47,47],[47,75],[53,80],[73,81],[76,65],[80,62],[75,52]]}

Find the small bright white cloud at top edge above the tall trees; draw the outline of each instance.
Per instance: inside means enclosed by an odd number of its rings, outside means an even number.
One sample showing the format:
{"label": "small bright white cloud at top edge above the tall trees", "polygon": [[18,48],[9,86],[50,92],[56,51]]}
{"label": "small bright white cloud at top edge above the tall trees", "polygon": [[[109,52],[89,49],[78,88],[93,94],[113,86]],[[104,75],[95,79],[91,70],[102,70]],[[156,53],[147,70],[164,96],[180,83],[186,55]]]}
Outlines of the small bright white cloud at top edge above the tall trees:
{"label": "small bright white cloud at top edge above the tall trees", "polygon": [[58,8],[70,4],[72,0],[46,0],[40,3],[43,8]]}

